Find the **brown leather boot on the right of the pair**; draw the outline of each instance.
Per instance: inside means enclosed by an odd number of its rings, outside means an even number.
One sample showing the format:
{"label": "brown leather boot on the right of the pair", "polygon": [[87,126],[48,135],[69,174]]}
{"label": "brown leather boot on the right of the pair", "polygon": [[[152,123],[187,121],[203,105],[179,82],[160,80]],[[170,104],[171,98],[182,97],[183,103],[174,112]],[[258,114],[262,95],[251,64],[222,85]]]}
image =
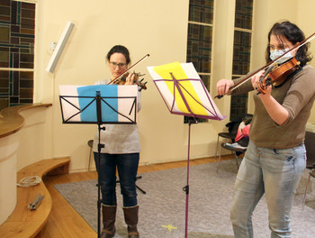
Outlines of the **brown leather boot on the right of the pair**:
{"label": "brown leather boot on the right of the pair", "polygon": [[125,216],[125,223],[128,225],[128,237],[139,238],[137,229],[139,206],[123,207],[123,215]]}

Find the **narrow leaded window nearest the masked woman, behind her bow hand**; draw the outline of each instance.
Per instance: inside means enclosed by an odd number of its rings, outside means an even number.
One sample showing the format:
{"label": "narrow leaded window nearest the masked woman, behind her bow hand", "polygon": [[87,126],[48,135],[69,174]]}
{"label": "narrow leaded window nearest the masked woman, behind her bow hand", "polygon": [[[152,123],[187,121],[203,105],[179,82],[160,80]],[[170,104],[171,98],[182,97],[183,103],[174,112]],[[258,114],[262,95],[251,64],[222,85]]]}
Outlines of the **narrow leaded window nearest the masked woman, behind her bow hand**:
{"label": "narrow leaded window nearest the masked woman, behind her bow hand", "polygon": [[[250,66],[254,0],[236,0],[232,78],[247,74]],[[231,96],[230,119],[247,113],[247,95]]]}

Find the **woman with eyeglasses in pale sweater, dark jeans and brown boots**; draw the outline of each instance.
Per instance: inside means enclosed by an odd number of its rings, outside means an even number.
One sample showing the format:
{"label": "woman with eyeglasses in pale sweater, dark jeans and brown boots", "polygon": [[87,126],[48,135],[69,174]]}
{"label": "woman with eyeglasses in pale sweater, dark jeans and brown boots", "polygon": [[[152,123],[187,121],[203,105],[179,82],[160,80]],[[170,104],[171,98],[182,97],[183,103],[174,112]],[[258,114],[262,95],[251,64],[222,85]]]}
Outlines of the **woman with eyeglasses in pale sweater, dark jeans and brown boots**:
{"label": "woman with eyeglasses in pale sweater, dark jeans and brown boots", "polygon": [[[108,85],[112,79],[121,76],[130,64],[129,50],[122,45],[115,45],[107,53],[106,62],[111,71],[111,78],[96,82],[96,85]],[[134,74],[129,74],[124,85],[133,85]],[[123,86],[122,86],[123,87]],[[140,92],[138,93],[138,111]],[[104,148],[101,155],[97,152],[98,132],[94,136],[94,160],[99,172],[102,192],[103,230],[102,238],[110,238],[115,234],[116,200],[116,169],[121,184],[123,214],[128,225],[128,237],[138,238],[137,229],[139,206],[136,191],[136,176],[139,165],[139,132],[137,124],[106,124],[101,131],[101,143]],[[98,168],[98,160],[100,168]]]}

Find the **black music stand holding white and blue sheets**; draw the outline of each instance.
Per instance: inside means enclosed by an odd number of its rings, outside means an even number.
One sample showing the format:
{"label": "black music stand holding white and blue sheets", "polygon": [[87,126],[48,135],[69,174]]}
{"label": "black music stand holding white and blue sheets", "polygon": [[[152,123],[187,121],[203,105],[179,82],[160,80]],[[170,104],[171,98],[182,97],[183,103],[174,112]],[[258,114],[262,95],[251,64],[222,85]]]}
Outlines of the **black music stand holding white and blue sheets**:
{"label": "black music stand holding white and blue sheets", "polygon": [[[137,124],[137,86],[60,86],[60,108],[63,124],[97,124],[97,237],[101,235],[100,154],[103,124]],[[67,96],[63,96],[67,95]],[[106,96],[102,96],[106,95]],[[138,188],[138,187],[137,187]]]}

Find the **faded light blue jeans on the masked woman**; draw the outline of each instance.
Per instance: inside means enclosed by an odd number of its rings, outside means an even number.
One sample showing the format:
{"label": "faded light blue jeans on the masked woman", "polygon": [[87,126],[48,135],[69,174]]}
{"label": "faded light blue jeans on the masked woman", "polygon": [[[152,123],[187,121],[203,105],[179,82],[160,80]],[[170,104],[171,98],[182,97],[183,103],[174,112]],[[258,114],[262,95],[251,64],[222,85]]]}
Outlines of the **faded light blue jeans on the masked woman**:
{"label": "faded light blue jeans on the masked woman", "polygon": [[230,219],[235,238],[253,237],[251,216],[266,194],[271,236],[291,237],[290,212],[306,166],[304,144],[293,149],[259,148],[249,141],[238,170]]}

